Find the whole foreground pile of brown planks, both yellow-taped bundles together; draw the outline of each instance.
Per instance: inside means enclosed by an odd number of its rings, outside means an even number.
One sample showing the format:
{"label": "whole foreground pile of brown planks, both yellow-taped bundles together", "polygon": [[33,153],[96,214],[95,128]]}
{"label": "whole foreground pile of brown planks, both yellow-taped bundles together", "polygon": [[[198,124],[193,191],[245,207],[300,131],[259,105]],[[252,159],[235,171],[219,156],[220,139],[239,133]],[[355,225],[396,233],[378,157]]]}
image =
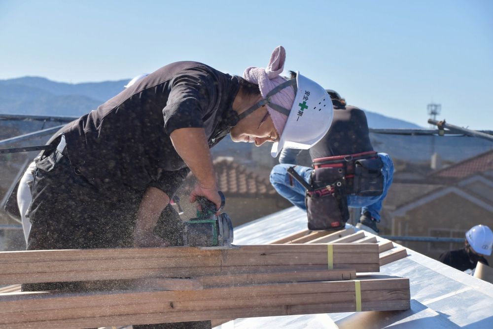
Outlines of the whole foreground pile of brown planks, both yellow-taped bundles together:
{"label": "whole foreground pile of brown planks, both yellow-taped bundles together", "polygon": [[[86,281],[99,286],[83,293],[4,288],[0,328],[88,328],[407,309],[408,279],[356,277],[356,272],[379,271],[379,247],[325,242],[227,250],[2,252],[0,284]],[[105,290],[107,280],[123,279],[128,280],[124,290]]]}

